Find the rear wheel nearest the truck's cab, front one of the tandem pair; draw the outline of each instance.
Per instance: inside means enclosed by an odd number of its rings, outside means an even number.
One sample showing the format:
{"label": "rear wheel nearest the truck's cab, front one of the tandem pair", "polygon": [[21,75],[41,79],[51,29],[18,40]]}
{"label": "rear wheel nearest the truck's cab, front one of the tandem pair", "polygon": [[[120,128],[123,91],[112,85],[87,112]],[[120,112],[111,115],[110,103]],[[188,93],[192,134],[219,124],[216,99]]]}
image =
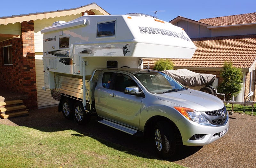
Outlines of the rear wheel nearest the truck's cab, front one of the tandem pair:
{"label": "rear wheel nearest the truck's cab, front one of the tandem pair", "polygon": [[74,118],[77,124],[86,124],[90,121],[91,116],[85,112],[81,102],[74,105]]}

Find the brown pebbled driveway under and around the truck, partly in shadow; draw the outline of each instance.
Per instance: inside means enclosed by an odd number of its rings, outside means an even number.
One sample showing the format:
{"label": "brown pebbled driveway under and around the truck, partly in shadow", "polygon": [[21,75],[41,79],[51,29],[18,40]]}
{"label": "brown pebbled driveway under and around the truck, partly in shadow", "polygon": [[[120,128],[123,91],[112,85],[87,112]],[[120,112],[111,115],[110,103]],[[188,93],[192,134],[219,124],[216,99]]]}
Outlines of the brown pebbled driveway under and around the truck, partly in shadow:
{"label": "brown pebbled driveway under and around the truck, partly in shadow", "polygon": [[[204,147],[181,146],[177,155],[169,161],[189,168],[256,167],[256,117],[234,113],[229,118],[229,131],[220,140]],[[99,124],[96,116],[87,125],[77,125],[74,120],[67,120],[61,112],[57,112],[57,107],[30,110],[29,116],[0,119],[0,124],[49,132],[72,129],[106,145],[109,145],[106,142],[112,142],[139,152],[140,157],[160,159],[149,147],[148,140]]]}

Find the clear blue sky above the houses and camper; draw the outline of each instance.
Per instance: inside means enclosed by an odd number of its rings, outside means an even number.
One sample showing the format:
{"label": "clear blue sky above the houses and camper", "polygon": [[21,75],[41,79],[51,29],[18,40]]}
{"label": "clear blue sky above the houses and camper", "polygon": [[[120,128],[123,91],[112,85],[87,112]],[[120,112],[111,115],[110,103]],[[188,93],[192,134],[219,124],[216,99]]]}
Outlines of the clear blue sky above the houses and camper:
{"label": "clear blue sky above the houses and camper", "polygon": [[[256,12],[256,0],[2,0],[0,17],[57,11],[95,2],[110,14],[145,13],[170,21],[177,16],[192,20]],[[156,14],[154,14],[154,11]]]}

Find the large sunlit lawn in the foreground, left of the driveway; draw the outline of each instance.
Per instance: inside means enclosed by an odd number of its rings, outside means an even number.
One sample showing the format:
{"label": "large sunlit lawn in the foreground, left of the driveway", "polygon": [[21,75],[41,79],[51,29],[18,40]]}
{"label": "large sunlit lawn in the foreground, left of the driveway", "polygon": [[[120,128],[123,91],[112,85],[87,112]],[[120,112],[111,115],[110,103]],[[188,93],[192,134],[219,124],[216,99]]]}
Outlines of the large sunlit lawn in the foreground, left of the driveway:
{"label": "large sunlit lawn in the foreground, left of the driveway", "polygon": [[44,132],[2,124],[0,130],[0,168],[182,167],[166,160],[143,157],[143,154],[110,142],[103,144],[102,140],[74,130]]}

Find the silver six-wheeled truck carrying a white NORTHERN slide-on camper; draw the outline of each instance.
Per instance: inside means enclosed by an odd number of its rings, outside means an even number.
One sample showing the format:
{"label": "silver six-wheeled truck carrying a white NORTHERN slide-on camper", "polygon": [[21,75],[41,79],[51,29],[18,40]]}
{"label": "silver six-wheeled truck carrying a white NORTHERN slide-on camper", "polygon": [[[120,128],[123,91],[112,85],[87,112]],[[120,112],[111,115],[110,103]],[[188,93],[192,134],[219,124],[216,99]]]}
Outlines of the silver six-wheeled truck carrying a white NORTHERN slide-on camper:
{"label": "silver six-wheeled truck carrying a white NORTHERN slide-on camper", "polygon": [[82,16],[44,28],[44,89],[78,124],[99,123],[149,136],[159,155],[177,144],[202,146],[228,132],[228,113],[216,96],[184,87],[144,67],[143,58],[190,59],[185,31],[149,15]]}

